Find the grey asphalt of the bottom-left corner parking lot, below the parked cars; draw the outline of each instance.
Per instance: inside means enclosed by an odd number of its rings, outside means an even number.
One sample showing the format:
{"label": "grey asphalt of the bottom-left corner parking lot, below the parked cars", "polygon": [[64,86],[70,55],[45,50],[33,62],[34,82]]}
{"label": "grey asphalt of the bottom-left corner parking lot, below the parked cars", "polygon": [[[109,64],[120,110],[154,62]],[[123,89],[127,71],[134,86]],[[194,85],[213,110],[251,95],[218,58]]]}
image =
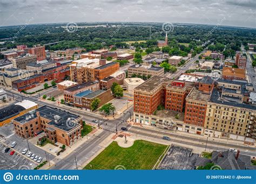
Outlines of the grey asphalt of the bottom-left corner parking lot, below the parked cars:
{"label": "grey asphalt of the bottom-left corner parking lot, below the parked cars", "polygon": [[[0,143],[0,169],[33,169],[37,165],[27,158],[25,155],[17,154],[16,152],[13,155],[10,155],[12,150],[9,150],[7,153],[2,153],[2,150],[5,146]],[[21,150],[22,151],[22,150]]]}

